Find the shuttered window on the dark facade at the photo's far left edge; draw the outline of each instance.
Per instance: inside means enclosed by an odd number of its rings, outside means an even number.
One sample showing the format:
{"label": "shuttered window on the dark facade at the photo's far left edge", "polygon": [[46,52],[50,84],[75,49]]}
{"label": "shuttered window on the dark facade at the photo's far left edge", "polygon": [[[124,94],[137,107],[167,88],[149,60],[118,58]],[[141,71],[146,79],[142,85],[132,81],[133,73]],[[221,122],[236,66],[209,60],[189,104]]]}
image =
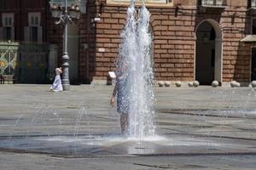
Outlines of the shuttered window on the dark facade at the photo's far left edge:
{"label": "shuttered window on the dark facade at the photo's far left edge", "polygon": [[14,14],[2,14],[2,26],[0,28],[0,39],[3,41],[15,39]]}

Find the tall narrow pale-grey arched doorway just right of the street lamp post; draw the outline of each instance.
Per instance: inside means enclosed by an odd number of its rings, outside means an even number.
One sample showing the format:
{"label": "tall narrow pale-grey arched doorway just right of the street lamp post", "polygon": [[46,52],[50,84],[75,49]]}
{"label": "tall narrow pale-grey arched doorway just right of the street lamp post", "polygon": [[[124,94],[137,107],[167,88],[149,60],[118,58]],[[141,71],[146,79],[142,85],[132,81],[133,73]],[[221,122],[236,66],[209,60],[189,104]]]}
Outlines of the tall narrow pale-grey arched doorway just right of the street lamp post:
{"label": "tall narrow pale-grey arched doorway just right of the street lamp post", "polygon": [[72,84],[79,83],[79,28],[67,25],[67,53],[69,56],[69,80]]}

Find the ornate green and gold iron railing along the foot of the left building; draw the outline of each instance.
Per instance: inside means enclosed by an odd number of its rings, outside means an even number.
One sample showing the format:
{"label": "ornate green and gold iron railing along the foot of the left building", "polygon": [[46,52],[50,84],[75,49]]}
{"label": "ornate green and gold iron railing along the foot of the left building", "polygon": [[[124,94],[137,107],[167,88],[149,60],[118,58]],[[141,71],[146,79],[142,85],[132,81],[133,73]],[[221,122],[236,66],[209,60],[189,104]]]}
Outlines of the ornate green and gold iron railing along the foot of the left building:
{"label": "ornate green and gold iron railing along the foot of the left building", "polygon": [[0,42],[0,80],[47,82],[48,54],[48,43]]}

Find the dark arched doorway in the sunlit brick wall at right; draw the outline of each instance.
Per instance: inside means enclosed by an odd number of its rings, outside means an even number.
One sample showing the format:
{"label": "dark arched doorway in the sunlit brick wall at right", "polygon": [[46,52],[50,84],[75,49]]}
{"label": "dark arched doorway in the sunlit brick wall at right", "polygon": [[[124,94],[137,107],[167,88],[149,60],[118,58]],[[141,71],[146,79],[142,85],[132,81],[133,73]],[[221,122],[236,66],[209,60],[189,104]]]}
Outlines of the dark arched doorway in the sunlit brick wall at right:
{"label": "dark arched doorway in the sunlit brick wall at right", "polygon": [[196,28],[195,80],[210,85],[222,82],[222,32],[215,20],[203,20]]}

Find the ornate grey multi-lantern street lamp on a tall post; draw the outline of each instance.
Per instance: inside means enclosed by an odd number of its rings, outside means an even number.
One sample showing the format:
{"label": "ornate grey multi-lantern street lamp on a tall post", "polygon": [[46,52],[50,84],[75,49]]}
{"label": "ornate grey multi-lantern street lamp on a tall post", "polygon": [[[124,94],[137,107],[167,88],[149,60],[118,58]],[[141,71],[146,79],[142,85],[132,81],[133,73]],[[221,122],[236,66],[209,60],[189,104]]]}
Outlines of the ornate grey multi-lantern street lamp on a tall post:
{"label": "ornate grey multi-lantern street lamp on a tall post", "polygon": [[[65,3],[64,3],[65,1]],[[70,3],[71,2],[71,3]],[[64,3],[64,6],[63,6]],[[51,0],[50,10],[54,18],[59,18],[55,24],[63,24],[63,55],[62,55],[62,86],[64,91],[68,91],[70,88],[69,74],[68,74],[68,54],[67,54],[67,24],[68,22],[73,23],[73,20],[78,20],[80,18],[80,0]],[[67,7],[68,6],[68,7]]]}

